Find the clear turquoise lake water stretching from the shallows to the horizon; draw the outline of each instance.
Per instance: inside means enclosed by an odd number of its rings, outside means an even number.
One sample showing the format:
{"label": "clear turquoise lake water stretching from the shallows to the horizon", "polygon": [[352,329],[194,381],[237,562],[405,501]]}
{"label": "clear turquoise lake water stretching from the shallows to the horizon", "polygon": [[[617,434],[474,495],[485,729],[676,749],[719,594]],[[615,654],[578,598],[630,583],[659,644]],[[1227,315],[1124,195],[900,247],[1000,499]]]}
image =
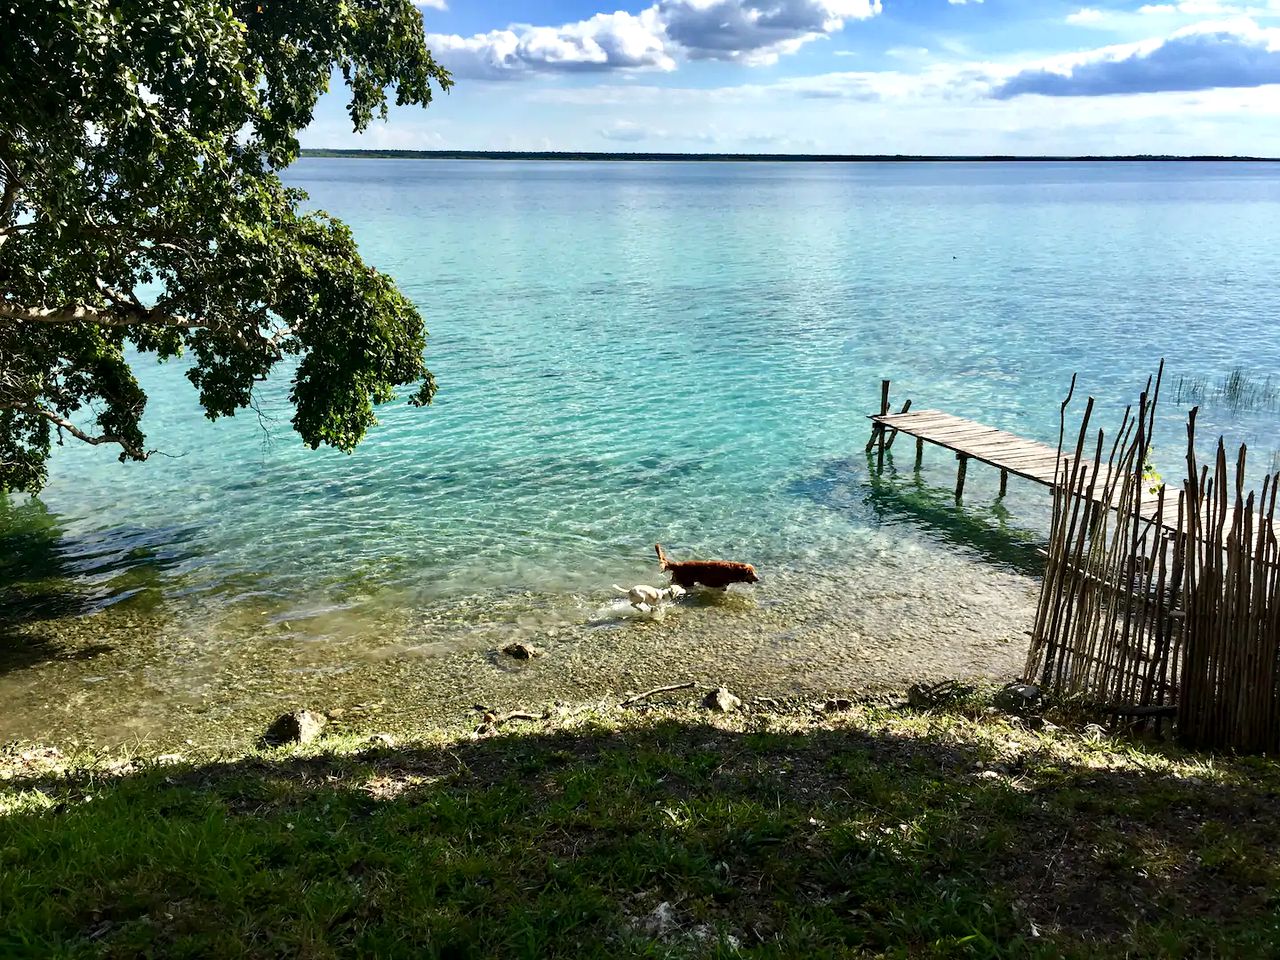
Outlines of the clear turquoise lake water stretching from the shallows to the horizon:
{"label": "clear turquoise lake water stretching from the shallows to the horizon", "polygon": [[[425,411],[387,406],[348,457],[297,443],[283,381],[262,393],[278,422],[209,424],[180,366],[145,362],[150,442],[170,457],[69,445],[38,502],[0,506],[5,575],[44,591],[28,620],[90,612],[100,632],[172,639],[136,664],[111,641],[95,682],[140,703],[200,701],[264,631],[308,677],[549,630],[589,667],[609,585],[655,581],[655,540],[763,577],[741,605],[663,625],[671,649],[746,636],[780,682],[849,663],[890,676],[934,652],[947,666],[956,644],[978,666],[965,637],[1010,645],[1029,626],[1047,497],[1014,483],[997,503],[975,467],[956,509],[954,463],[931,453],[916,476],[910,444],[874,480],[881,378],[895,404],[1052,442],[1073,371],[1103,422],[1161,357],[1170,387],[1280,376],[1275,165],[316,159],[289,180],[421,306],[442,390]],[[1174,476],[1166,396],[1156,460]],[[1201,416],[1265,465],[1280,447],[1274,411]],[[32,716],[102,672],[92,652],[59,658],[65,635],[0,675]],[[863,645],[870,666],[833,653]],[[154,731],[173,709],[110,728]]]}

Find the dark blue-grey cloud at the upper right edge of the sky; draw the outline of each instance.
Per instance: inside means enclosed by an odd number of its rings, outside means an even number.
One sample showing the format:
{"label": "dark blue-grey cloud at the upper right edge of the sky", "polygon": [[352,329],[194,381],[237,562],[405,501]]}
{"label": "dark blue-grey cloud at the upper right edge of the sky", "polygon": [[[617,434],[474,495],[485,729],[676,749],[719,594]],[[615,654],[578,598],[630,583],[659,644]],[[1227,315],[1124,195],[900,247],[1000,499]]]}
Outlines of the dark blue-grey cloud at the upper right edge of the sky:
{"label": "dark blue-grey cloud at the upper right edge of the sky", "polygon": [[1226,20],[1028,68],[998,83],[992,96],[1107,96],[1268,83],[1280,83],[1280,29]]}

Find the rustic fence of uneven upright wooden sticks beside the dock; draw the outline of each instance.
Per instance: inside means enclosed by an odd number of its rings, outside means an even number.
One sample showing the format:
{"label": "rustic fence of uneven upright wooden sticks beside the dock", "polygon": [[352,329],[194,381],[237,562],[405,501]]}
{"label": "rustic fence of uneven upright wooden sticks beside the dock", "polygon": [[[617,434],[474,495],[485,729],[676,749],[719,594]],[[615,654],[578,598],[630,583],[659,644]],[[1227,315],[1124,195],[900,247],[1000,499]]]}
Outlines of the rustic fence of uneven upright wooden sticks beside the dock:
{"label": "rustic fence of uneven upright wooden sticks beside the dock", "polygon": [[1187,479],[1153,481],[1147,466],[1164,374],[1148,380],[1111,443],[1091,434],[1085,404],[1075,456],[1059,475],[1048,561],[1027,676],[1115,718],[1176,722],[1197,746],[1280,749],[1280,475],[1245,492],[1247,449],[1234,471],[1222,440],[1212,468],[1187,424]]}

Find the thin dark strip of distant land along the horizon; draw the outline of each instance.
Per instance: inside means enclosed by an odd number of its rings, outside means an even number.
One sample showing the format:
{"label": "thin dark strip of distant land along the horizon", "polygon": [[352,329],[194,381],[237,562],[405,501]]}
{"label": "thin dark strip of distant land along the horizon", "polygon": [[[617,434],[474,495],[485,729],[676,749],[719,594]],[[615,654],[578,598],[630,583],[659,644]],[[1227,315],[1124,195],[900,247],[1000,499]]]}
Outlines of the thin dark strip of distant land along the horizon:
{"label": "thin dark strip of distant land along the horizon", "polygon": [[312,147],[302,151],[303,157],[346,157],[357,160],[562,160],[575,163],[600,161],[690,161],[690,163],[824,163],[824,164],[913,164],[913,163],[1252,163],[1274,164],[1274,156],[1174,156],[1165,154],[1134,154],[1117,156],[1015,156],[1015,155],[956,155],[929,156],[913,154],[604,154],[573,151],[526,150],[330,150]]}

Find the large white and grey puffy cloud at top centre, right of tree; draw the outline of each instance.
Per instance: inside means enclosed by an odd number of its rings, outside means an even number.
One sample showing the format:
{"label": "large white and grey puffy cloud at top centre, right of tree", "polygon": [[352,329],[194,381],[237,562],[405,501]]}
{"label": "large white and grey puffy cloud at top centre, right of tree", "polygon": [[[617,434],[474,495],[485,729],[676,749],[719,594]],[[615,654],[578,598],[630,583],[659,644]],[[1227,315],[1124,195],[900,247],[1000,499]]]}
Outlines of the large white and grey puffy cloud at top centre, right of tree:
{"label": "large white and grey puffy cloud at top centre, right of tree", "polygon": [[512,24],[472,37],[433,33],[428,44],[456,76],[488,79],[672,70],[680,59],[754,65],[879,12],[881,0],[657,0],[636,14],[602,13],[559,27]]}

